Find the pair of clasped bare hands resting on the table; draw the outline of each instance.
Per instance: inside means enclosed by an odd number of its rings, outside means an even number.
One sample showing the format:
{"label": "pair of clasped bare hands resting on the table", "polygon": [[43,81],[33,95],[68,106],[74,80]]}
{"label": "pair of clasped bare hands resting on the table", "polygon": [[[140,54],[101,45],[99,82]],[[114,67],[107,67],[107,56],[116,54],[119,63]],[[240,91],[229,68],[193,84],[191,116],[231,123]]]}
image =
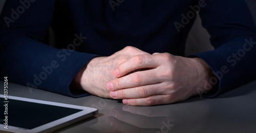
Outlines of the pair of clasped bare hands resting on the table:
{"label": "pair of clasped bare hands resting on the table", "polygon": [[[151,106],[198,95],[214,76],[200,58],[143,52],[126,47],[109,57],[93,58],[74,77],[76,87],[93,95],[123,99],[126,105]],[[202,91],[201,91],[202,92]]]}

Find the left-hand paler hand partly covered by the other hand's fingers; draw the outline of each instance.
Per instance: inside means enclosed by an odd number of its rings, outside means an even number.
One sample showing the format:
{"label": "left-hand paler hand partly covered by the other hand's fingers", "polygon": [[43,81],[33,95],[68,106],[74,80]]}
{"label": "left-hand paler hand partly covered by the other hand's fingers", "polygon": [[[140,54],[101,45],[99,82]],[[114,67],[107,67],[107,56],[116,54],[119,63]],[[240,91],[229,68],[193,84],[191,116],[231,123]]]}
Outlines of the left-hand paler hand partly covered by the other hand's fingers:
{"label": "left-hand paler hand partly covered by the other hand's fingers", "polygon": [[77,73],[72,84],[93,95],[111,98],[109,90],[106,89],[106,83],[116,78],[113,76],[114,69],[120,63],[138,54],[148,55],[137,48],[125,47],[109,57],[93,58]]}

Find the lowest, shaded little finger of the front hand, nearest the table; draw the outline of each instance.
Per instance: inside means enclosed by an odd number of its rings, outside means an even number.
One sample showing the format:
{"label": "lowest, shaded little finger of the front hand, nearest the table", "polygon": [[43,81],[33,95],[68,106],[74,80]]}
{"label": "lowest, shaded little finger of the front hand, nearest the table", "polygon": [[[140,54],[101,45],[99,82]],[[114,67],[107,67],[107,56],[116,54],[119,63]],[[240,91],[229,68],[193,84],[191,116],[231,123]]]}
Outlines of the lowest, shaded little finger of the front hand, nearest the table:
{"label": "lowest, shaded little finger of the front hand, nearest the table", "polygon": [[123,99],[123,104],[134,106],[152,106],[159,104],[169,104],[177,102],[175,99],[169,98],[166,95],[153,95],[137,99]]}

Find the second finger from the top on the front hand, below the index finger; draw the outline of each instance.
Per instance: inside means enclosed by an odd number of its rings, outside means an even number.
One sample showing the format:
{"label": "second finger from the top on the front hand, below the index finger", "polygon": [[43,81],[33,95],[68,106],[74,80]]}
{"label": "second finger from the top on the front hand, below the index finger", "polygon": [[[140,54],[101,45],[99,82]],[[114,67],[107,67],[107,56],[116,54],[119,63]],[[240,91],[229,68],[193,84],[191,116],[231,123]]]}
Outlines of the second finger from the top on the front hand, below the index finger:
{"label": "second finger from the top on the front hand, below the index finger", "polygon": [[161,78],[157,78],[157,70],[139,71],[121,78],[114,79],[107,84],[110,91],[120,90],[122,88],[137,87],[146,84],[154,84],[161,82]]}

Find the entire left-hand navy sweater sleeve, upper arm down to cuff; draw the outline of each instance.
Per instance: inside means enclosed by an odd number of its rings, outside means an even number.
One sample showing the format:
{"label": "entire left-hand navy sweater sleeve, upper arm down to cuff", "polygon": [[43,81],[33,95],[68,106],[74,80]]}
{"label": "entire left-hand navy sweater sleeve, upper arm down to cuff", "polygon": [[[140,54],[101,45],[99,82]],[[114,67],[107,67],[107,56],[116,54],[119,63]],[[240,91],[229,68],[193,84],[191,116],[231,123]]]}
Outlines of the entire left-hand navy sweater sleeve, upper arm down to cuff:
{"label": "entire left-hand navy sweater sleeve, upper arm down to cuff", "polygon": [[[89,95],[71,91],[69,85],[96,55],[55,49],[44,43],[54,10],[52,0],[6,1],[0,16],[0,76],[28,86],[30,93],[40,88],[72,97]],[[71,48],[84,39],[81,33],[74,34]]]}

